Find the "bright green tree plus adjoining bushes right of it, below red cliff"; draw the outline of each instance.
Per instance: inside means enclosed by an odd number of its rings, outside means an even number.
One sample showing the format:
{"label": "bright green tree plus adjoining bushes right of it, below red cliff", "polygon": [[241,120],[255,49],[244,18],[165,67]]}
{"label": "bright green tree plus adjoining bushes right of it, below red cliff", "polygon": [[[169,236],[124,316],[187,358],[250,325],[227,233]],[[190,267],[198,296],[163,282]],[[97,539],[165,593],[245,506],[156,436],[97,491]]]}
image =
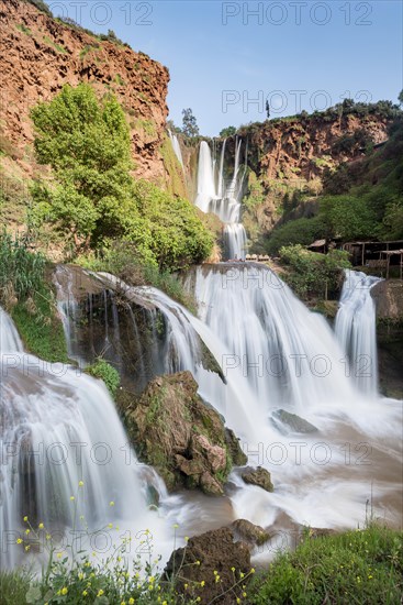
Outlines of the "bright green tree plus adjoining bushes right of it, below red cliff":
{"label": "bright green tree plus adjoining bushes right of it, below red cliff", "polygon": [[130,131],[113,95],[66,85],[32,110],[35,152],[55,182],[32,189],[36,227],[51,223],[76,253],[131,242],[144,262],[177,270],[209,256],[213,238],[194,207],[131,176]]}

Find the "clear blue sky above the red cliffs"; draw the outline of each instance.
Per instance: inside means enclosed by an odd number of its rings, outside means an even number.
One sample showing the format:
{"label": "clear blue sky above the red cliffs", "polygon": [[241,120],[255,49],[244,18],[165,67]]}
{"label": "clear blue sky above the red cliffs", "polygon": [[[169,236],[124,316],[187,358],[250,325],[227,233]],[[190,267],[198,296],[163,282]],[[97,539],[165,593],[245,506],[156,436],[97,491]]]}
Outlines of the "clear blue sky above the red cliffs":
{"label": "clear blue sky above the red cliffs", "polygon": [[170,118],[192,108],[201,133],[403,88],[400,0],[48,0],[96,32],[114,30],[169,68]]}

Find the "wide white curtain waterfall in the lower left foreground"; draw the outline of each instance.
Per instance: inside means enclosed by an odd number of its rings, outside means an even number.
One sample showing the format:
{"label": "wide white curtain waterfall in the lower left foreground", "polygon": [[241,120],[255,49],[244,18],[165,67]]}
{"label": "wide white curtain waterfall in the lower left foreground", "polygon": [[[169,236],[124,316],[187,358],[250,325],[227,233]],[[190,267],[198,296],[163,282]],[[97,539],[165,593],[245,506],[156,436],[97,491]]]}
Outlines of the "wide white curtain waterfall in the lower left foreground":
{"label": "wide white curtain waterfall in the lower left foreground", "polygon": [[72,528],[71,496],[90,530],[111,521],[133,531],[159,524],[146,506],[145,466],[128,447],[103,383],[24,353],[3,310],[0,321],[2,564],[20,561],[15,540],[25,515],[58,534]]}

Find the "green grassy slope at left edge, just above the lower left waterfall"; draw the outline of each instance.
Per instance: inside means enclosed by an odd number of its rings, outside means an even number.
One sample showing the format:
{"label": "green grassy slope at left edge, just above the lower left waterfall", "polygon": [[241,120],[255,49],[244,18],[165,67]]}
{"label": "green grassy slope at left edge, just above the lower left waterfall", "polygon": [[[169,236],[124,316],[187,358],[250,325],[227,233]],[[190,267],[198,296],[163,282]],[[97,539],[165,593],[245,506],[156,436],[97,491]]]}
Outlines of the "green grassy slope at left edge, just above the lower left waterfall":
{"label": "green grassy slope at left edge, just above the lower left waterfall", "polygon": [[54,294],[46,282],[46,258],[26,239],[0,235],[0,304],[11,312],[26,349],[49,362],[68,362]]}

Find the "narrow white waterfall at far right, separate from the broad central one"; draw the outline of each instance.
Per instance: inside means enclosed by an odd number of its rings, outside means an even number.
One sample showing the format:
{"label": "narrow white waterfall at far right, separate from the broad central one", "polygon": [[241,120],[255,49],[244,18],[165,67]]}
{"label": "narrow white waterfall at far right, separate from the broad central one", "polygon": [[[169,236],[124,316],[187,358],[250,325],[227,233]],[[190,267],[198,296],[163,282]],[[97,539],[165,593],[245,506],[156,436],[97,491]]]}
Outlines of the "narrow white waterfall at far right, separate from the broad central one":
{"label": "narrow white waterfall at far right, separate from the broad central one", "polygon": [[378,282],[379,277],[347,270],[335,324],[351,378],[361,392],[372,396],[378,389],[378,353],[376,305],[370,290]]}

